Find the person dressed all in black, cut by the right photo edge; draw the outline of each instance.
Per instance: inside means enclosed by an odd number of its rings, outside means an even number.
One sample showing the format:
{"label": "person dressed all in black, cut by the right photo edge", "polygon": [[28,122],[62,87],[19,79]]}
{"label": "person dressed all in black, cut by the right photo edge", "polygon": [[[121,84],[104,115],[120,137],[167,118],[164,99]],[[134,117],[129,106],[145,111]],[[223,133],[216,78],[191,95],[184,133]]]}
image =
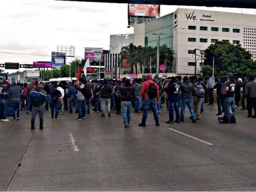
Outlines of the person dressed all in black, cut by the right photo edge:
{"label": "person dressed all in black, cut by the right photo edge", "polygon": [[[249,83],[245,85],[245,95],[247,100],[248,116],[256,118],[256,83],[254,77],[249,77]],[[252,108],[254,110],[254,115],[252,115]]]}

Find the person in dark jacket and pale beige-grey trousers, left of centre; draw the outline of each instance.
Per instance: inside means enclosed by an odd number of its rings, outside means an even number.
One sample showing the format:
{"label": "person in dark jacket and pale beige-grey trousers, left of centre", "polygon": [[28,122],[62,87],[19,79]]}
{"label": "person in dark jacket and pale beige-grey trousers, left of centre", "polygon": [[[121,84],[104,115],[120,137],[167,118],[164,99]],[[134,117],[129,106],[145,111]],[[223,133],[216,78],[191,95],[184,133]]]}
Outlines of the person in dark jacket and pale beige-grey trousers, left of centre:
{"label": "person in dark jacket and pale beige-grey trousers, left of centre", "polygon": [[112,89],[110,84],[108,83],[107,79],[104,79],[102,82],[102,86],[100,89],[100,108],[102,111],[102,117],[106,117],[106,108],[108,111],[108,117],[111,117],[110,114],[110,97],[111,97]]}

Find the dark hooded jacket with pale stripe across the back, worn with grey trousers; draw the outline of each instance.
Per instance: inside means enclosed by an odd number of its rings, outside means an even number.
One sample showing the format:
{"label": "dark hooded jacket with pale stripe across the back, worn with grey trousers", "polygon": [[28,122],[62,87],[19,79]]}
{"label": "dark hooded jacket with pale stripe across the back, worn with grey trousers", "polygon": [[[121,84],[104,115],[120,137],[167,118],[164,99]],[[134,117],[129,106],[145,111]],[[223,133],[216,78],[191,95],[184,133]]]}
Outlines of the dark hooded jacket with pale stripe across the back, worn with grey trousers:
{"label": "dark hooded jacket with pale stripe across the back, worn with grey trousers", "polygon": [[29,93],[30,100],[34,107],[40,107],[44,105],[44,102],[48,99],[46,91],[41,87],[37,86],[35,89],[32,89]]}

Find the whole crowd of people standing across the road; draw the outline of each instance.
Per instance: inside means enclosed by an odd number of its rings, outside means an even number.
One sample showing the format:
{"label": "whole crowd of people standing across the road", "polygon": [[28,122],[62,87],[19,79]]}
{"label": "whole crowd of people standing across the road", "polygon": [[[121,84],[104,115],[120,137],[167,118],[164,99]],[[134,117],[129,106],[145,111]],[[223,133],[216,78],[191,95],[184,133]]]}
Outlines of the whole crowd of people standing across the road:
{"label": "whole crowd of people standing across the road", "polygon": [[[169,118],[165,122],[174,124],[184,122],[186,106],[190,112],[190,119],[196,123],[200,114],[204,114],[204,103],[214,105],[214,89],[216,89],[218,120],[220,123],[236,123],[235,108],[248,110],[248,117],[256,118],[256,82],[253,76],[235,79],[228,73],[225,79],[215,78],[209,74],[207,79],[196,76],[172,76],[166,79],[151,74],[146,79],[131,80],[124,77],[122,80],[88,80],[81,78],[70,84],[57,84],[32,81],[31,84],[4,82],[0,86],[0,119],[8,122],[11,108],[13,121],[20,120],[20,111],[31,113],[31,129],[35,129],[35,118],[39,114],[40,126],[43,129],[44,112],[51,109],[51,117],[65,115],[65,111],[77,113],[77,120],[81,121],[92,110],[101,112],[101,117],[111,117],[111,111],[123,116],[125,128],[130,126],[131,114],[142,113],[141,123],[146,126],[148,111],[152,110],[155,125],[159,126],[158,115],[166,103]],[[242,96],[241,96],[242,95]],[[245,106],[245,100],[247,106]],[[134,110],[133,110],[134,109]],[[254,114],[252,114],[252,109]],[[174,119],[175,112],[175,119]]]}

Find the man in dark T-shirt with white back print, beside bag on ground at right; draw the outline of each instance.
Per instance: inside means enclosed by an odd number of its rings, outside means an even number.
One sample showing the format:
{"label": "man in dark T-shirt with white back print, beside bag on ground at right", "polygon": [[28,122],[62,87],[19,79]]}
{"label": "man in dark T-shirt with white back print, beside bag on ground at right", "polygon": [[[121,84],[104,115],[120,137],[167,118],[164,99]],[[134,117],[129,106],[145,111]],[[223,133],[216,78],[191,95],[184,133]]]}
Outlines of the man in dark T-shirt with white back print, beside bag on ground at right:
{"label": "man in dark T-shirt with white back print, beside bag on ground at right", "polygon": [[[228,78],[224,92],[224,121],[221,123],[236,123],[235,116],[236,85],[233,78]],[[231,109],[231,110],[230,110]]]}

